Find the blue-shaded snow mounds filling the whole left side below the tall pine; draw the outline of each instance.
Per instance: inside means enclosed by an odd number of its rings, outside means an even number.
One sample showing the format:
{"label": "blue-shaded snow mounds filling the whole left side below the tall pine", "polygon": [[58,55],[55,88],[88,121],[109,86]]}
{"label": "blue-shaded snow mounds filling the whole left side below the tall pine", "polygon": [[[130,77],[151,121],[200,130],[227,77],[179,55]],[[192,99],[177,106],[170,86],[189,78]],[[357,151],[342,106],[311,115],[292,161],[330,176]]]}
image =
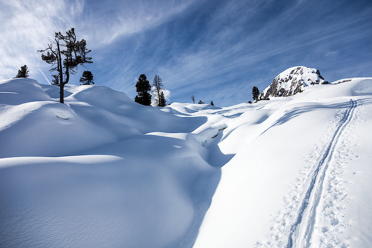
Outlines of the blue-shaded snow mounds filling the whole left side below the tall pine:
{"label": "blue-shaded snow mounds filling the whole left side below the tall pine", "polygon": [[59,87],[31,79],[0,89],[9,95],[0,104],[0,247],[195,240],[219,178],[189,134],[207,117],[181,118],[105,86],[66,86],[65,104]]}

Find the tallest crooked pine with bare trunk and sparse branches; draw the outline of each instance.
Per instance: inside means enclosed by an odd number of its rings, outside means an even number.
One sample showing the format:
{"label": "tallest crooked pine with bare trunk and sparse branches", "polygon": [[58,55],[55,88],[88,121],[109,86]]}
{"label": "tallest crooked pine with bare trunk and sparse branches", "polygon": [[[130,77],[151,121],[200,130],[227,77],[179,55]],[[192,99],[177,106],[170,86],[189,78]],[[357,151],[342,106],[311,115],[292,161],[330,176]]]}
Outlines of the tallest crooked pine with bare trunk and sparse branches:
{"label": "tallest crooked pine with bare trunk and sparse branches", "polygon": [[[62,35],[61,32],[56,32],[54,41],[48,44],[48,48],[38,50],[41,52],[41,59],[53,66],[49,71],[57,71],[57,77],[60,85],[60,103],[63,102],[63,87],[68,83],[70,74],[77,73],[78,65],[93,63],[90,61],[92,58],[88,57],[90,50],[86,48],[87,42],[82,39],[76,40],[75,29],[71,28]],[[56,46],[56,48],[53,47]],[[63,49],[63,50],[62,50]],[[44,54],[44,52],[47,52]]]}

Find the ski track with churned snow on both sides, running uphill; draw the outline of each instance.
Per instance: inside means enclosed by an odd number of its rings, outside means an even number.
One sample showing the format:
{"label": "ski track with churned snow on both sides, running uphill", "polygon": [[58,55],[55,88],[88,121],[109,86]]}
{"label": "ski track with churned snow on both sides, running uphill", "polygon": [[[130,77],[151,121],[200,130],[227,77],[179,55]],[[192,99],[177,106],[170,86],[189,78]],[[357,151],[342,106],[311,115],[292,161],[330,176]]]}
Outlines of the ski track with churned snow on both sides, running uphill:
{"label": "ski track with churned snow on both sides, running uphill", "polygon": [[349,183],[340,177],[345,164],[357,157],[348,144],[362,115],[362,107],[353,99],[336,112],[290,187],[291,193],[283,198],[282,209],[273,215],[266,240],[256,242],[254,248],[348,247],[339,234],[350,226],[342,221],[342,209],[352,199],[346,194]]}

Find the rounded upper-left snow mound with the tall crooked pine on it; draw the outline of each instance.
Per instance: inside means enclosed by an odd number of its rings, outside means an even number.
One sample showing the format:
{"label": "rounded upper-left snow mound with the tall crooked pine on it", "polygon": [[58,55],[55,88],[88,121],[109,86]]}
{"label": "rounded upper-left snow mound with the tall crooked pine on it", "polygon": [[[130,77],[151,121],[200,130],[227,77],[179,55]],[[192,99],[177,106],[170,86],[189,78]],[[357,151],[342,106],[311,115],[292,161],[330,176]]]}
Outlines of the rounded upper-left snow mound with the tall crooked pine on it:
{"label": "rounded upper-left snow mound with the tall crooked pine on it", "polygon": [[59,90],[29,78],[0,81],[0,157],[70,155],[148,132],[192,132],[203,121],[142,106],[105,86],[65,86],[65,104],[54,98]]}

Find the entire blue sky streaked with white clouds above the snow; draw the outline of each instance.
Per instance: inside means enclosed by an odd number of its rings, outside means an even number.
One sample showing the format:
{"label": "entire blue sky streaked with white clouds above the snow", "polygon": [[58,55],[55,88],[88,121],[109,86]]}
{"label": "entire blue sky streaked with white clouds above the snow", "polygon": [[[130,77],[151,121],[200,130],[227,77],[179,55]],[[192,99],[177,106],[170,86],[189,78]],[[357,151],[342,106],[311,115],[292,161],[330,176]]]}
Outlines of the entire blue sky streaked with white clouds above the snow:
{"label": "entire blue sky streaked with white clouds above the snow", "polygon": [[172,102],[191,102],[193,94],[217,106],[251,100],[253,86],[262,90],[296,65],[330,82],[372,76],[370,0],[0,0],[0,8],[1,79],[26,64],[47,84],[49,65],[36,50],[71,27],[94,63],[69,83],[90,70],[96,84],[131,99],[142,73],[150,82],[160,75]]}

